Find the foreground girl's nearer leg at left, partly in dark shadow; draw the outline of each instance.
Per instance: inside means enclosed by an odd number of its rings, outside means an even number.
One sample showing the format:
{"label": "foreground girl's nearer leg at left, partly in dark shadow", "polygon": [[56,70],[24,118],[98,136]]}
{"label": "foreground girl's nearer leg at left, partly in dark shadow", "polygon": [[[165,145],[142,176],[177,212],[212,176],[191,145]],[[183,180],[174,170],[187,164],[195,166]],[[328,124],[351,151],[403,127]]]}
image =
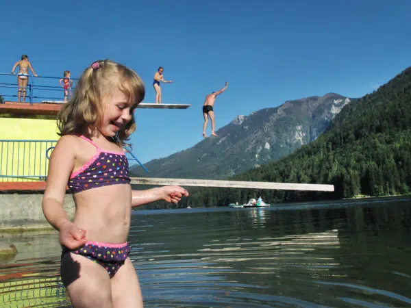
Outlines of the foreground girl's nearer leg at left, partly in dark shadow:
{"label": "foreground girl's nearer leg at left, partly in dark shadow", "polygon": [[110,277],[103,266],[82,255],[66,253],[61,275],[74,308],[113,308]]}

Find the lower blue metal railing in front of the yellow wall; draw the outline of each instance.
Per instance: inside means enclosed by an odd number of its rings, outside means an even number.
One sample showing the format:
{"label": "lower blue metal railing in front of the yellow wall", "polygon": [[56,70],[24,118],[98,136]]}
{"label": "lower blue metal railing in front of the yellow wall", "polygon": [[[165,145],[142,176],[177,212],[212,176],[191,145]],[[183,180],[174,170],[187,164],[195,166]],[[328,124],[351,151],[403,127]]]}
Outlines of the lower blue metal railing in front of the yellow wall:
{"label": "lower blue metal railing in front of the yellow wall", "polygon": [[[0,140],[0,181],[45,181],[49,171],[49,155],[57,140]],[[135,160],[149,172],[137,157]]]}

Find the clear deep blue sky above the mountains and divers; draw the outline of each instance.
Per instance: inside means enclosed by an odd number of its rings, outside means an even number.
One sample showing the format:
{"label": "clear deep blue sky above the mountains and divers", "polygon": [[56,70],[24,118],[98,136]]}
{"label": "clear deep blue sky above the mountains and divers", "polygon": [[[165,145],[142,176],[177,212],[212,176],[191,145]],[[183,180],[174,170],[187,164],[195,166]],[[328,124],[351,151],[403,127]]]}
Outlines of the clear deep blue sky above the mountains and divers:
{"label": "clear deep blue sky above the mountains and divers", "polygon": [[361,97],[411,63],[408,0],[23,0],[5,1],[1,12],[3,73],[23,53],[38,75],[58,77],[110,58],[136,70],[153,102],[153,75],[164,66],[174,83],[162,85],[163,103],[192,106],[136,111],[142,162],[201,141],[204,98],[225,81],[216,129],[290,99]]}

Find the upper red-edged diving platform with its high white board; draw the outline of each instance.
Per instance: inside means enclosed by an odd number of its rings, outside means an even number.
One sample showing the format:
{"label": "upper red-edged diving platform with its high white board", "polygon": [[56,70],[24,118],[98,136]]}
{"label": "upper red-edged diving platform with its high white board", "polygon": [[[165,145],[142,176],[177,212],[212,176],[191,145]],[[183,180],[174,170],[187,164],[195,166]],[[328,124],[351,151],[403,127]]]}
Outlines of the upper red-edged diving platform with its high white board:
{"label": "upper red-edged diving platform with its high white board", "polygon": [[[0,104],[0,114],[36,114],[36,115],[57,115],[64,101],[42,101],[41,103],[16,103],[5,101]],[[156,104],[140,103],[137,108],[146,109],[187,109],[188,104]]]}

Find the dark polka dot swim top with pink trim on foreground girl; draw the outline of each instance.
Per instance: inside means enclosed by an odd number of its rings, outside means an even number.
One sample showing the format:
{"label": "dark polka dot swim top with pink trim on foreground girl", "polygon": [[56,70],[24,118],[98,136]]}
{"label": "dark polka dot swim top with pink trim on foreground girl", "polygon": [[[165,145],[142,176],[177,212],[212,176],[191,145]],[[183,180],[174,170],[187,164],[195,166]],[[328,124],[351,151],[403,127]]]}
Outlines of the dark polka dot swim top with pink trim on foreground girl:
{"label": "dark polka dot swim top with pink trim on foreground girl", "polygon": [[97,153],[82,168],[71,173],[68,185],[73,194],[101,186],[130,183],[128,161],[124,153],[104,151],[90,139],[80,137],[94,145]]}

